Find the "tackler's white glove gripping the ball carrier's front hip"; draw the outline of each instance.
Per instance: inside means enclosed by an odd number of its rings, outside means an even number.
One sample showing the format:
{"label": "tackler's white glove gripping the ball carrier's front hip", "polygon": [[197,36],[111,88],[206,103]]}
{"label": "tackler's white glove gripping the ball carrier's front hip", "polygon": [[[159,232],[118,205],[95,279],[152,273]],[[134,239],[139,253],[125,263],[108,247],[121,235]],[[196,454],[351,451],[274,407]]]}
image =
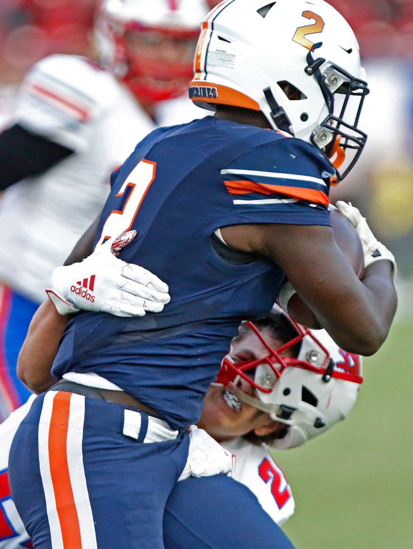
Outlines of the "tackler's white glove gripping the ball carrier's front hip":
{"label": "tackler's white glove gripping the ball carrier's front hip", "polygon": [[189,437],[188,459],[178,481],[188,477],[212,477],[220,473],[232,477],[235,456],[196,425],[191,425]]}

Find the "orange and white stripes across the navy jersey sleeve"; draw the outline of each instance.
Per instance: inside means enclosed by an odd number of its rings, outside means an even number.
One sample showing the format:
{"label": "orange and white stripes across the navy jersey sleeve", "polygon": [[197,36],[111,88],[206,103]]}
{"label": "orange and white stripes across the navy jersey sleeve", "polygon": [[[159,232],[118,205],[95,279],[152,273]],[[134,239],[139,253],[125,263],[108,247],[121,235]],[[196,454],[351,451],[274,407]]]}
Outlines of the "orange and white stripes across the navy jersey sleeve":
{"label": "orange and white stripes across the navy jersey sleeve", "polygon": [[[258,170],[240,170],[230,169],[221,170],[222,175],[241,175],[241,180],[226,180],[225,186],[230,194],[241,195],[248,193],[260,193],[260,194],[286,194],[289,199],[268,198],[268,199],[256,199],[256,200],[233,200],[234,204],[275,204],[284,203],[286,201],[298,201],[305,200],[312,204],[323,204],[328,206],[328,192],[325,181],[318,177],[299,175],[295,173],[280,173],[280,172],[267,172]],[[275,179],[283,181],[305,182],[310,183],[312,187],[314,184],[320,188],[308,188],[305,186],[292,186],[286,184],[276,184],[272,182],[257,182],[252,181],[250,178],[264,178]]]}

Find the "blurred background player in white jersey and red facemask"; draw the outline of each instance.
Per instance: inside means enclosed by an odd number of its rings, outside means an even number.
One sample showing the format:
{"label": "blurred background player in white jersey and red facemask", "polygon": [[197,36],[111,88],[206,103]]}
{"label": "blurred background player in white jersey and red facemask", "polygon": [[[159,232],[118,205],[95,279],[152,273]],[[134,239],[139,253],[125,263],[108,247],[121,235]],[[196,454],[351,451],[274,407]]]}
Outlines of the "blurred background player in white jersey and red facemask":
{"label": "blurred background player in white jersey and red facemask", "polygon": [[51,55],[27,72],[0,135],[0,421],[29,393],[15,365],[30,318],[109,193],[109,175],[157,125],[199,117],[192,77],[204,0],[104,0],[102,65]]}

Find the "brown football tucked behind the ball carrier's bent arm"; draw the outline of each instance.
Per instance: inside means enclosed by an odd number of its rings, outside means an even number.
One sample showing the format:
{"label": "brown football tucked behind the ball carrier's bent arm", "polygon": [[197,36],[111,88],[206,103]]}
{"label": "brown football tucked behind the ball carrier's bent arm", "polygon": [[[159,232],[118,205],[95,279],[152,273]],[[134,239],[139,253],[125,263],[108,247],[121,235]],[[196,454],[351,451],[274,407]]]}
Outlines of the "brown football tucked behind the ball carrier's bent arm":
{"label": "brown football tucked behind the ball carrier's bent arm", "polygon": [[[364,277],[364,253],[359,235],[351,222],[336,206],[330,204],[330,210],[334,239],[350,264],[353,265],[356,275],[362,280]],[[288,300],[288,314],[303,326],[313,329],[321,328],[311,309],[297,293],[293,294]]]}

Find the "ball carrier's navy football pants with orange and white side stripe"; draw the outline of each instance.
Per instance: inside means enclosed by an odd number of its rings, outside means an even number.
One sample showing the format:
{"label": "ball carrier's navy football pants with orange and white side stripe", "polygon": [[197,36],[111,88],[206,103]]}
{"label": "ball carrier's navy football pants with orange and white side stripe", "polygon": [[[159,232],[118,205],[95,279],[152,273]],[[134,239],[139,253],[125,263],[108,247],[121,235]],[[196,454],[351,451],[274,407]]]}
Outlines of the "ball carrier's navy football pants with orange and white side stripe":
{"label": "ball carrier's navy football pants with orange and white side stripe", "polygon": [[9,458],[13,498],[36,549],[158,549],[164,528],[170,549],[291,549],[236,481],[176,483],[187,433],[142,443],[123,434],[125,406],[55,395],[52,406],[45,394],[35,400]]}

